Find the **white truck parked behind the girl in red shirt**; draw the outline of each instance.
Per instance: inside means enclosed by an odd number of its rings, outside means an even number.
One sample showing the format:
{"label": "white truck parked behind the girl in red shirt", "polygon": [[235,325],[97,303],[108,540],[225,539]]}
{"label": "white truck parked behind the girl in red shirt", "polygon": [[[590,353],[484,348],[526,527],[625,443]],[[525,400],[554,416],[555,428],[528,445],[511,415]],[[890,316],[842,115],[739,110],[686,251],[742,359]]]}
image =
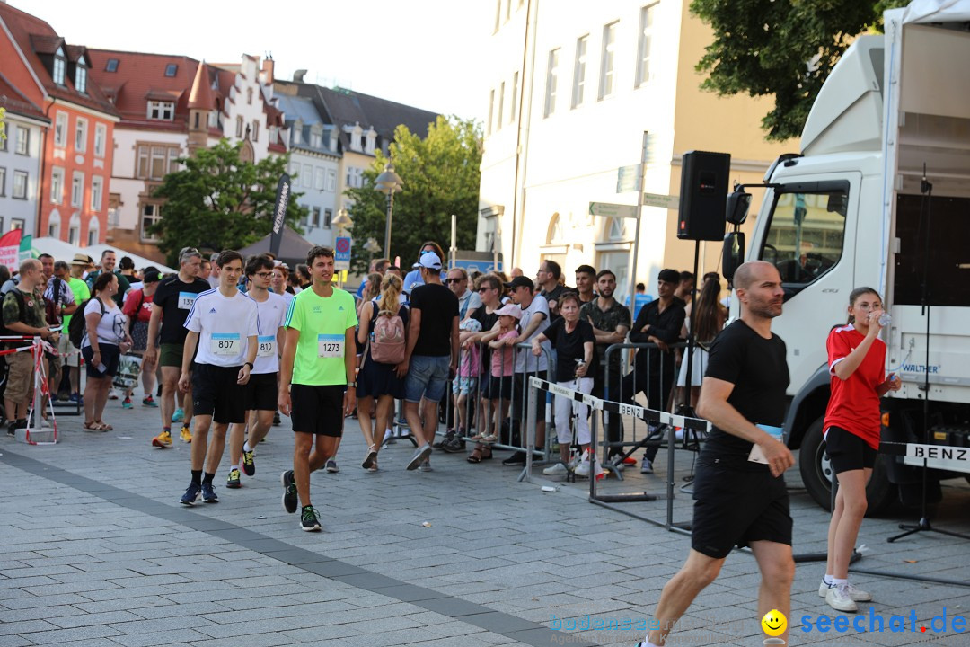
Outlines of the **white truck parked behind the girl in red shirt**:
{"label": "white truck parked behind the girl in red shirt", "polygon": [[[887,12],[885,35],[860,37],[824,82],[801,152],[776,160],[764,182],[746,258],[774,264],[784,280],[772,330],[788,345],[785,435],[812,497],[829,504],[825,339],[846,322],[857,286],[883,296],[887,369],[903,381],[884,399],[883,440],[970,447],[970,0]],[[745,198],[728,199],[728,220]],[[908,463],[880,455],[870,512],[897,494],[920,501],[921,471]],[[941,479],[962,476],[932,470],[929,499]]]}

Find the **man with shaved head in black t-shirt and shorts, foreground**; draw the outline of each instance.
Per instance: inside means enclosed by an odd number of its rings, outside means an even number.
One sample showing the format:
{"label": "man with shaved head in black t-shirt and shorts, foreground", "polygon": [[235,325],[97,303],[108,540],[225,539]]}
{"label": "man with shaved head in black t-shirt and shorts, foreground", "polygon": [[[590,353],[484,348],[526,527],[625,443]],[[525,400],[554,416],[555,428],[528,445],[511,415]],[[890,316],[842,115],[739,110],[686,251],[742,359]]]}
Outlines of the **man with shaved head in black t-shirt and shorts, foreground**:
{"label": "man with shaved head in black t-shirt and shorts, foreground", "polygon": [[691,552],[663,587],[657,623],[640,647],[663,645],[734,546],[751,546],[758,561],[758,617],[791,612],[792,516],[782,474],[794,458],[781,440],[789,372],[785,342],[771,332],[785,293],[778,270],[763,261],[738,268],[734,287],[741,318],[714,340],[697,404],[713,429],[697,459]]}

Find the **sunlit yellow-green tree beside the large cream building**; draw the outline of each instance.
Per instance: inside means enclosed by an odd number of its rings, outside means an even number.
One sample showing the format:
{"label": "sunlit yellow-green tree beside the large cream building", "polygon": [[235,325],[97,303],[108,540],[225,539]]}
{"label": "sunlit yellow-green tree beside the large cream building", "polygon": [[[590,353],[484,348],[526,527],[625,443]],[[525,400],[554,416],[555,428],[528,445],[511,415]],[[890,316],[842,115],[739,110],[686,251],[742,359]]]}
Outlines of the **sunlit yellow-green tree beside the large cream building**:
{"label": "sunlit yellow-green tree beside the large cream building", "polygon": [[[404,189],[394,196],[391,223],[391,260],[401,256],[410,269],[421,243],[436,241],[447,250],[451,243],[451,214],[458,216],[458,248],[472,249],[478,222],[478,178],[482,158],[481,131],[473,121],[438,116],[421,139],[398,126],[390,146],[395,171]],[[364,244],[373,238],[384,247],[387,196],[374,188],[374,179],[387,163],[380,150],[363,186],[350,188],[348,207],[353,226],[351,269],[367,272],[371,253]],[[383,252],[378,252],[378,256]]]}

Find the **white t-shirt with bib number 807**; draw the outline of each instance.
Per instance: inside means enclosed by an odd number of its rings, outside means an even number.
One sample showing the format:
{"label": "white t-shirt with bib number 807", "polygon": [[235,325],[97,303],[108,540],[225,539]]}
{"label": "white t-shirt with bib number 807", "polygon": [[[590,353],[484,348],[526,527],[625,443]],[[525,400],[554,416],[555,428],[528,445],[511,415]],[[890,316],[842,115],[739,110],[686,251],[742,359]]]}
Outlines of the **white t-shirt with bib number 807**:
{"label": "white t-shirt with bib number 807", "polygon": [[259,336],[256,302],[242,292],[234,297],[224,297],[218,289],[203,292],[189,310],[185,328],[199,334],[197,364],[242,366],[248,338]]}

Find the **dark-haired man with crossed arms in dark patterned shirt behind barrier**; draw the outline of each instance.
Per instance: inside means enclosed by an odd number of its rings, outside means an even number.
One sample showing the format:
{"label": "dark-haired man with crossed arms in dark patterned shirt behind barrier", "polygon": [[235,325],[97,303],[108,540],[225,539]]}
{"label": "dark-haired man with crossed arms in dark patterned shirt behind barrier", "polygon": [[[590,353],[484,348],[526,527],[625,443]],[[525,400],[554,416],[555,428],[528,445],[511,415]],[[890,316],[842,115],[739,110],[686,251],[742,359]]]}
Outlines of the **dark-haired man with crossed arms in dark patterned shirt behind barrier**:
{"label": "dark-haired man with crossed arms in dark patterned shirt behind barrier", "polygon": [[[609,384],[606,384],[605,365],[606,348],[614,343],[623,343],[627,339],[630,331],[630,309],[624,307],[616,299],[613,293],[616,291],[616,275],[609,270],[602,270],[597,275],[598,297],[588,304],[579,308],[579,317],[589,321],[593,325],[593,333],[597,337],[597,356],[600,365],[597,367],[596,375],[593,380],[593,393],[599,398],[603,397],[603,387],[609,387],[610,400],[620,399],[620,381],[623,377],[621,373],[622,351],[614,351],[609,357]],[[619,442],[623,439],[623,427],[620,416],[611,415],[603,412],[603,426],[606,428],[606,437],[610,442]],[[622,448],[611,448],[609,455],[622,454]]]}

